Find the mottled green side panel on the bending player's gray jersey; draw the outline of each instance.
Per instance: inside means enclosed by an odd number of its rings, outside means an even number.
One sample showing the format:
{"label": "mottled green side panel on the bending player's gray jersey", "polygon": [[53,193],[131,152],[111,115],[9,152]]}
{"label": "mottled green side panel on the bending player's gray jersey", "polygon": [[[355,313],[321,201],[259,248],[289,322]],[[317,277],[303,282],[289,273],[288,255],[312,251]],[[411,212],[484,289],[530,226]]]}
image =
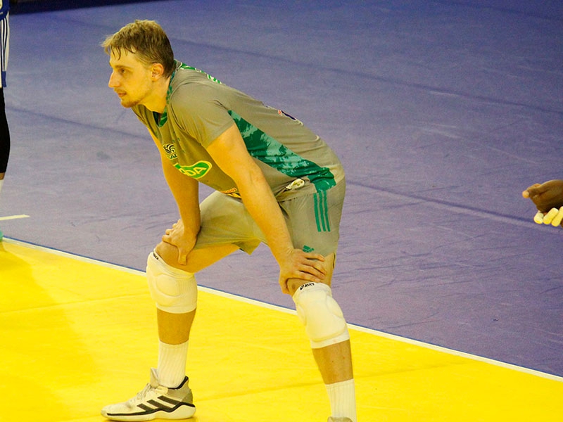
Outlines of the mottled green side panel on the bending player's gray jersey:
{"label": "mottled green side panel on the bending player's gray jersey", "polygon": [[241,132],[248,153],[257,160],[291,177],[308,177],[317,191],[327,191],[336,185],[334,175],[327,167],[320,167],[312,161],[300,157],[272,136],[244,120],[233,110],[229,110],[236,127]]}

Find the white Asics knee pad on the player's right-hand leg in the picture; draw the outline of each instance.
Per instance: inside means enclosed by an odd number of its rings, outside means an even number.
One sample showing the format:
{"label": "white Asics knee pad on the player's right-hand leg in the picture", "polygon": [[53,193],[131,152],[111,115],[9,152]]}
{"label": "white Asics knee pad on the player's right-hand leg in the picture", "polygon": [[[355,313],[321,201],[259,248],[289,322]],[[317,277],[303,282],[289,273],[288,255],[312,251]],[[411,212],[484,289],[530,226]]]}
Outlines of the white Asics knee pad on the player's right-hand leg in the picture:
{"label": "white Asics knee pad on the player's right-hand leg in the picture", "polygon": [[324,283],[305,283],[293,294],[297,315],[313,349],[350,339],[342,310]]}

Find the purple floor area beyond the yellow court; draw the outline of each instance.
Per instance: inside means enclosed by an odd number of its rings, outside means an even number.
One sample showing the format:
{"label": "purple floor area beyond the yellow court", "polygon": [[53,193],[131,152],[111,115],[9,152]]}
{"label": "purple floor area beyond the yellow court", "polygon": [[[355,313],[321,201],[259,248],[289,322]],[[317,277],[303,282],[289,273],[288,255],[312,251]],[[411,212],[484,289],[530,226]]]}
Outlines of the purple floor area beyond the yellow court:
{"label": "purple floor area beyond the yellow court", "polygon": [[[99,43],[155,19],[179,60],[296,115],[341,156],[334,294],[350,323],[563,376],[563,231],[534,224],[521,198],[563,178],[563,3],[313,3],[11,16],[0,215],[30,218],[4,234],[144,269],[177,210]],[[266,248],[198,282],[292,305]]]}

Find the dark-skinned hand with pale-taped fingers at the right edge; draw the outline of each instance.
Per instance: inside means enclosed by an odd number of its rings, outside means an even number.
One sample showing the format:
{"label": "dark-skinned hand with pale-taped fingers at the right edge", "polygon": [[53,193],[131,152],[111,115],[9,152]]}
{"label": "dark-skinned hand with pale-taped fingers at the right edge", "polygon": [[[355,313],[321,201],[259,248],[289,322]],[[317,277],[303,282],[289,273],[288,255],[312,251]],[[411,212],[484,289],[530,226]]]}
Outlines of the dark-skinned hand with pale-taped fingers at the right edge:
{"label": "dark-skinned hand with pale-taped fingers at the right edge", "polygon": [[563,180],[549,180],[543,184],[533,184],[522,192],[524,198],[530,198],[538,212],[533,221],[538,224],[562,226],[563,222]]}

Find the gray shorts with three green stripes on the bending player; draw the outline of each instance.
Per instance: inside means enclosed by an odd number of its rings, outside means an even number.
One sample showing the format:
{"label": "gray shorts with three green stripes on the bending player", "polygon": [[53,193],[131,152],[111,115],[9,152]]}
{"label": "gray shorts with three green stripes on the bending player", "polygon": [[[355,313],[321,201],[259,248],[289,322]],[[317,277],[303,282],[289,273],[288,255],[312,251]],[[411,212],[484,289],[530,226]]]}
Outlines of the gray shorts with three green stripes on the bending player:
{"label": "gray shorts with three green stripes on the bending player", "polygon": [[[336,252],[346,180],[328,191],[298,196],[279,203],[293,241],[293,247],[314,250],[321,255]],[[201,230],[195,249],[234,244],[251,254],[266,238],[242,201],[214,192],[201,207]]]}

